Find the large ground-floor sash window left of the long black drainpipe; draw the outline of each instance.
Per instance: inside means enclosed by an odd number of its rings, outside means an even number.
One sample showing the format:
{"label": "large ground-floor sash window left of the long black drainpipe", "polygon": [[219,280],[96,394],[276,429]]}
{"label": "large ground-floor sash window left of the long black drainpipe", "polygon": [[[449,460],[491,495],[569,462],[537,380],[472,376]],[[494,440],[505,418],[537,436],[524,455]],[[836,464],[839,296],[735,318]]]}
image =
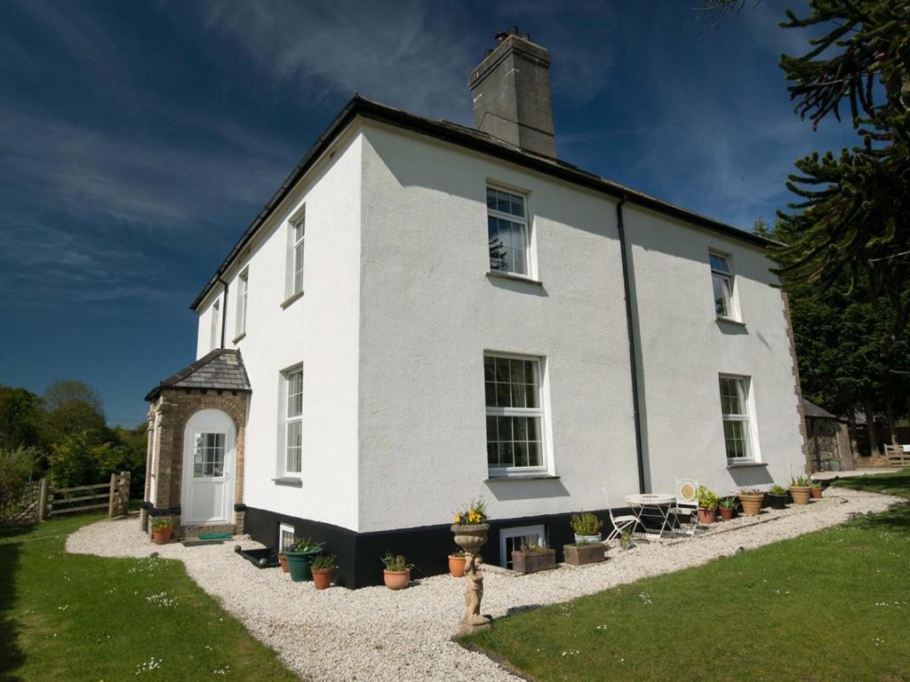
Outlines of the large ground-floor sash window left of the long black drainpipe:
{"label": "large ground-floor sash window left of the long black drainpipe", "polygon": [[540,359],[486,355],[483,375],[490,473],[543,469]]}

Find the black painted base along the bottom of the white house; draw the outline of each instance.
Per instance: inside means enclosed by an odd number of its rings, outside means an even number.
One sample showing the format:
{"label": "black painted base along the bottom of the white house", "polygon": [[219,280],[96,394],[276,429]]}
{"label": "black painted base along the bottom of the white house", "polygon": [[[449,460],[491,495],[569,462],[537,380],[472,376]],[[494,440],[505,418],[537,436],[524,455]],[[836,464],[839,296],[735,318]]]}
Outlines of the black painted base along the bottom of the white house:
{"label": "black painted base along the bottom of the white house", "polygon": [[[604,523],[604,537],[609,533],[610,517],[606,510],[594,511]],[[614,509],[613,514],[628,514],[628,510]],[[505,528],[540,526],[546,532],[547,545],[556,550],[556,560],[563,561],[562,546],[574,541],[569,521],[571,514],[551,514],[538,517],[496,519],[490,521],[490,539],[482,552],[488,564],[500,565],[500,532]],[[324,542],[326,552],[338,557],[335,581],[344,587],[382,585],[382,563],[379,558],[386,551],[403,554],[417,568],[411,572],[415,578],[436,576],[449,570],[448,558],[455,551],[450,525],[399,528],[373,533],[357,533],[348,528],[310,521],[306,518],[286,517],[267,509],[247,507],[245,529],[257,542],[266,547],[278,548],[278,526],[294,527],[297,536],[312,537]]]}

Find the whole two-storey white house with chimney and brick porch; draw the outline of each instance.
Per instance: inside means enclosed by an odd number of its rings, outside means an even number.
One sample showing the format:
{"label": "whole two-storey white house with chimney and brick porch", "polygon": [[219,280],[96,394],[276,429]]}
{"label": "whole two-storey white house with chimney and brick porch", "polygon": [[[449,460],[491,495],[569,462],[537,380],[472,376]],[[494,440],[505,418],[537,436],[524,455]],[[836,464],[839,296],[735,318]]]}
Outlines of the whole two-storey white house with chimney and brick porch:
{"label": "whole two-storey white house with chimney and brick porch", "polygon": [[444,571],[472,498],[505,564],[603,487],[803,470],[771,243],[559,161],[549,55],[498,38],[476,128],[355,96],[218,267],[195,368],[149,394],[147,514],[323,539],[359,587],[387,548]]}

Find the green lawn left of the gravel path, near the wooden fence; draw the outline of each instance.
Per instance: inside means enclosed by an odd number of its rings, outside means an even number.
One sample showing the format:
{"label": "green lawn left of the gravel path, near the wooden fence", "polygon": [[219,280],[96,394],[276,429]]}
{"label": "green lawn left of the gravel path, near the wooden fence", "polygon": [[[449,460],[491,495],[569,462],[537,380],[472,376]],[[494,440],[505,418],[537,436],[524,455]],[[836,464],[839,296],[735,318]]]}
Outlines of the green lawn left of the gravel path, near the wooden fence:
{"label": "green lawn left of the gravel path, near the wooden fence", "polygon": [[98,517],[0,528],[0,680],[297,680],[180,562],[66,554]]}

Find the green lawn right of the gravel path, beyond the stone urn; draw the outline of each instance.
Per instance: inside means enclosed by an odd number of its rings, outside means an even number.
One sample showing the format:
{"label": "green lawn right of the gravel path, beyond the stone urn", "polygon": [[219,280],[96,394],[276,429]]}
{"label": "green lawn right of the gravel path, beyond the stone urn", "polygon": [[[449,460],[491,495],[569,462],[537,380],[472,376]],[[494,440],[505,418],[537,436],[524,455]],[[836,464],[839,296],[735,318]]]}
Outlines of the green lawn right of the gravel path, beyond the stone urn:
{"label": "green lawn right of the gravel path, beyond the stone urn", "polygon": [[[910,496],[910,471],[843,479]],[[910,506],[524,611],[465,644],[533,680],[910,679]]]}

